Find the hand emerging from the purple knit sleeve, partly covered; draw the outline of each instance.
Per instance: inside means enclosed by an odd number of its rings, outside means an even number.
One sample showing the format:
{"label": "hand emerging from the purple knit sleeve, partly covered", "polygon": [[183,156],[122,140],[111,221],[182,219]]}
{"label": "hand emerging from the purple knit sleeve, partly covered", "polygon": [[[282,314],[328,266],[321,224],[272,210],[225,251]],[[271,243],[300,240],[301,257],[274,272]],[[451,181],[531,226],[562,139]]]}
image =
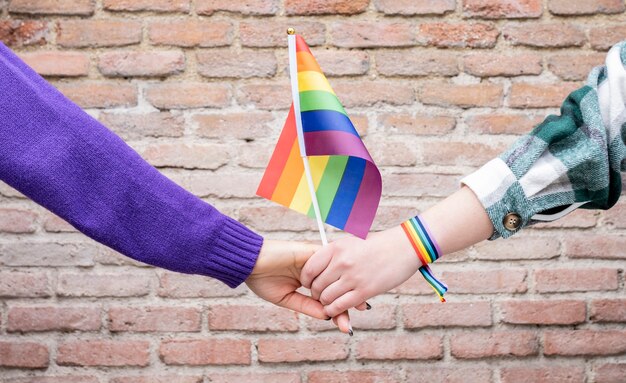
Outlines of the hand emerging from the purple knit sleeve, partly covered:
{"label": "hand emerging from the purple knit sleeve, partly covered", "polygon": [[[302,286],[302,267],[319,249],[320,246],[314,244],[266,240],[246,284],[260,298],[275,305],[313,318],[330,319],[319,301],[296,291]],[[342,332],[351,331],[347,311],[332,317]]]}

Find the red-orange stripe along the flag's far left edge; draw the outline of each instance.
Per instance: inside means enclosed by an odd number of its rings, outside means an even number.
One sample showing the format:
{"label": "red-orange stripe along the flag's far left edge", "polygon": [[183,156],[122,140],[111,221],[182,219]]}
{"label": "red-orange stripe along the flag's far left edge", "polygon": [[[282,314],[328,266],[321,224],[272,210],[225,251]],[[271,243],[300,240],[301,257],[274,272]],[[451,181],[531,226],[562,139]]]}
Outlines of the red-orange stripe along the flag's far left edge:
{"label": "red-orange stripe along the flag's far left edge", "polygon": [[276,185],[278,185],[278,180],[283,174],[283,169],[289,159],[289,154],[291,153],[294,141],[297,142],[298,140],[296,132],[296,119],[292,105],[289,110],[289,115],[287,116],[287,121],[285,121],[285,125],[283,126],[283,131],[278,138],[278,143],[274,148],[274,153],[272,154],[270,162],[267,165],[261,184],[256,191],[258,196],[269,200],[272,199],[272,194],[274,194]]}

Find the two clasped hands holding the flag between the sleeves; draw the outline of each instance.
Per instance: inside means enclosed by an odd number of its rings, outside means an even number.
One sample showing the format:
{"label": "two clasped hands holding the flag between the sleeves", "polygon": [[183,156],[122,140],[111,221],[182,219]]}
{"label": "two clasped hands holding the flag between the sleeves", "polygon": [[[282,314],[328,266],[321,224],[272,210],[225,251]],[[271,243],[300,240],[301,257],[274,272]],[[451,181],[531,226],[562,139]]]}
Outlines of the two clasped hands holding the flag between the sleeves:
{"label": "two clasped hands holding the flag between the sleeves", "polygon": [[[266,240],[246,284],[260,298],[352,333],[348,309],[400,285],[421,266],[402,229],[327,246]],[[310,289],[310,296],[298,291]]]}

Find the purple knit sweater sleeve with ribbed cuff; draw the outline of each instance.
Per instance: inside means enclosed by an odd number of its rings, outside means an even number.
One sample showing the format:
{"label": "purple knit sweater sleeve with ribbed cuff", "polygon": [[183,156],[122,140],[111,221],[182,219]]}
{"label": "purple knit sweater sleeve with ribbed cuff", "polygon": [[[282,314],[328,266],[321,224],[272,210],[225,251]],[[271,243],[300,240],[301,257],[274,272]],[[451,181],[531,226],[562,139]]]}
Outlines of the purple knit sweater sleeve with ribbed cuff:
{"label": "purple knit sweater sleeve with ribbed cuff", "polygon": [[128,257],[231,287],[248,277],[263,244],[159,173],[2,43],[0,179]]}

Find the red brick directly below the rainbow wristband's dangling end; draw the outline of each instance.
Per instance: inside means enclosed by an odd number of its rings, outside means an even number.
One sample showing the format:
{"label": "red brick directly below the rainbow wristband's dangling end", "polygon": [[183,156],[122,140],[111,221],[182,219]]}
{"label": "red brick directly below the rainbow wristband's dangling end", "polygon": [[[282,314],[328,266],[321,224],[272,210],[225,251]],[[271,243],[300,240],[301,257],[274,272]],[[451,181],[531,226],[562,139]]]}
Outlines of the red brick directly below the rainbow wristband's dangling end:
{"label": "red brick directly below the rainbow wristband's dangling end", "polygon": [[491,326],[489,302],[409,303],[402,305],[404,328]]}

